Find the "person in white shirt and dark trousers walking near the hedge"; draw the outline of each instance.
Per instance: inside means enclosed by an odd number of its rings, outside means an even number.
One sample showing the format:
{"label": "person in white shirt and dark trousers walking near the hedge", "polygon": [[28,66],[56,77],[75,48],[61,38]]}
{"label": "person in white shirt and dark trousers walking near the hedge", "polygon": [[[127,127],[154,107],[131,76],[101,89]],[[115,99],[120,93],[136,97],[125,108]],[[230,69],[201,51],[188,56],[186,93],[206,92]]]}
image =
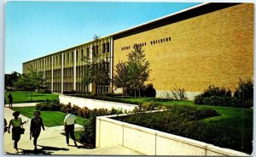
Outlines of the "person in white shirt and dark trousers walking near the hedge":
{"label": "person in white shirt and dark trousers walking near the hedge", "polygon": [[72,137],[73,143],[75,144],[75,146],[76,147],[78,146],[76,139],[74,137],[74,124],[76,123],[76,120],[77,120],[77,117],[76,115],[73,115],[72,110],[67,109],[67,115],[64,119],[64,129],[66,132],[66,141],[68,146],[69,146],[69,135],[70,137]]}

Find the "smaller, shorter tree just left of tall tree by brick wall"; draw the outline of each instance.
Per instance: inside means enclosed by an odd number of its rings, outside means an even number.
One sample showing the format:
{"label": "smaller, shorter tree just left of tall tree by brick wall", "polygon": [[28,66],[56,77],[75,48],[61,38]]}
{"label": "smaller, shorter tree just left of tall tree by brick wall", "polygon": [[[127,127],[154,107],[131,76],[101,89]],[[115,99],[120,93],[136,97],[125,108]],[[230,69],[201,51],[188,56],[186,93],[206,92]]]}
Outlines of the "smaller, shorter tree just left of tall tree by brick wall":
{"label": "smaller, shorter tree just left of tall tree by brick wall", "polygon": [[124,62],[116,64],[116,75],[113,76],[113,85],[115,87],[122,87],[122,97],[126,87],[130,85],[129,70]]}

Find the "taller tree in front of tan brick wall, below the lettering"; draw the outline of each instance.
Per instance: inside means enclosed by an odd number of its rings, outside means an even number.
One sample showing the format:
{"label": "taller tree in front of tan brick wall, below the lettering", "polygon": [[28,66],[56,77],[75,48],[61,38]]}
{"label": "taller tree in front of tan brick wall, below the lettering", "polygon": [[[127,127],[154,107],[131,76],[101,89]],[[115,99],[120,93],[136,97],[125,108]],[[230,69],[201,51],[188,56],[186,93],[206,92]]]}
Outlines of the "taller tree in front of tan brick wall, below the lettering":
{"label": "taller tree in front of tan brick wall, below the lettering", "polygon": [[149,77],[149,62],[145,59],[145,54],[143,47],[135,44],[133,46],[131,53],[128,56],[127,67],[129,71],[129,77],[131,82],[131,89],[135,91],[139,91],[140,97],[140,88],[143,86],[145,81],[148,81]]}

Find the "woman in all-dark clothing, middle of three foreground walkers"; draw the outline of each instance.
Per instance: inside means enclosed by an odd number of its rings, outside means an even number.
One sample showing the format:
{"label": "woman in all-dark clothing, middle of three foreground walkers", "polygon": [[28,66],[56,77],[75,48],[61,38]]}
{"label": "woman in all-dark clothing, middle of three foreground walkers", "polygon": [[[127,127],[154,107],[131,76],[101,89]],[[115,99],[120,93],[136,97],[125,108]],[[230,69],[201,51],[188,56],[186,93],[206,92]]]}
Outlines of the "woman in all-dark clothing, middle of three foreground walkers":
{"label": "woman in all-dark clothing, middle of three foreground walkers", "polygon": [[32,137],[34,137],[33,144],[35,146],[35,150],[37,150],[37,143],[38,143],[38,137],[41,132],[41,127],[44,130],[44,122],[42,117],[40,117],[41,113],[40,111],[35,111],[34,116],[32,117],[31,123],[30,123],[30,134]]}

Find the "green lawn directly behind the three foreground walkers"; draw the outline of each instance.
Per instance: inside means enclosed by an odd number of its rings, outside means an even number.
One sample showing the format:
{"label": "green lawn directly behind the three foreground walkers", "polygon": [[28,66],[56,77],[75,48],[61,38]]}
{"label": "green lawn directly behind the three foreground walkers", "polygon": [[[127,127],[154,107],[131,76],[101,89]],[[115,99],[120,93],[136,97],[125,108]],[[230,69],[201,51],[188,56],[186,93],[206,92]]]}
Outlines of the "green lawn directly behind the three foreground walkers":
{"label": "green lawn directly behind the three foreground walkers", "polygon": [[[15,107],[15,111],[20,111],[21,115],[32,118],[34,115],[35,107]],[[67,114],[60,111],[40,111],[41,117],[44,121],[44,126],[63,126],[63,120]],[[84,126],[84,118],[77,116],[77,124]],[[25,120],[23,120],[25,121]]]}

